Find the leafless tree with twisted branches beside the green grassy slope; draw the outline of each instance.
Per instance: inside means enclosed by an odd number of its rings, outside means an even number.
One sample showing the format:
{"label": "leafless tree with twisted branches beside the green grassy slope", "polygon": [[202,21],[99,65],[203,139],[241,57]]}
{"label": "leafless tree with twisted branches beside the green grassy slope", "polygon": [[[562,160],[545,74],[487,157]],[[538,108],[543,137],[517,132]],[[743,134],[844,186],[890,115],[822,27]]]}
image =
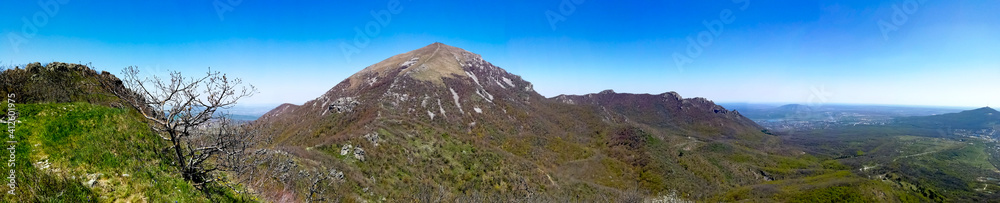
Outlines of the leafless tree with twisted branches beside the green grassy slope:
{"label": "leafless tree with twisted branches beside the green grassy slope", "polygon": [[[126,89],[112,89],[125,103],[142,114],[161,138],[169,142],[169,157],[184,179],[196,187],[217,181],[214,171],[247,172],[254,167],[251,158],[266,153],[258,149],[260,131],[249,124],[234,124],[220,110],[232,107],[256,92],[241,79],[212,72],[203,77],[184,77],[180,72],[170,78],[140,78],[130,66],[122,71]],[[214,160],[214,164],[209,160]]]}

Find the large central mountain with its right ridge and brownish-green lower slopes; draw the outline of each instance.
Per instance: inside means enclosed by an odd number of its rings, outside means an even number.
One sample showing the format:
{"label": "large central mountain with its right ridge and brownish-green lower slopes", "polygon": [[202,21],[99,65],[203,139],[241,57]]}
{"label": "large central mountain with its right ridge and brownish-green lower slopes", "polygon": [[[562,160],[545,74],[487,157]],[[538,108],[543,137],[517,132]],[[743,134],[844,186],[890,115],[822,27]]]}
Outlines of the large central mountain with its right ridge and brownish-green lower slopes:
{"label": "large central mountain with its right ridge and brownish-green lower slopes", "polygon": [[720,201],[739,187],[809,174],[783,168],[801,153],[708,99],[610,90],[545,98],[520,76],[441,43],[368,66],[257,122],[299,162],[343,171],[335,190],[360,199],[626,201],[617,198],[674,191]]}

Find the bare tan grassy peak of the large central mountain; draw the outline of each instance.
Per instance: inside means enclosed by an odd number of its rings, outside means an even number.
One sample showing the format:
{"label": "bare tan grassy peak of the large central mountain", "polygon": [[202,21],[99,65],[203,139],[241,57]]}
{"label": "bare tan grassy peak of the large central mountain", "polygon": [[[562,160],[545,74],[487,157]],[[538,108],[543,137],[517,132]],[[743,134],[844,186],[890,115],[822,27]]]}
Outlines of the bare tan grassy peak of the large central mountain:
{"label": "bare tan grassy peak of the large central mountain", "polygon": [[391,73],[405,75],[417,80],[428,81],[434,84],[443,84],[442,78],[464,77],[464,65],[472,62],[481,62],[479,54],[475,54],[465,49],[449,46],[441,42],[434,42],[425,47],[395,55],[368,66],[364,70],[351,76],[351,86],[366,80],[364,77],[377,74],[377,77],[386,77]]}

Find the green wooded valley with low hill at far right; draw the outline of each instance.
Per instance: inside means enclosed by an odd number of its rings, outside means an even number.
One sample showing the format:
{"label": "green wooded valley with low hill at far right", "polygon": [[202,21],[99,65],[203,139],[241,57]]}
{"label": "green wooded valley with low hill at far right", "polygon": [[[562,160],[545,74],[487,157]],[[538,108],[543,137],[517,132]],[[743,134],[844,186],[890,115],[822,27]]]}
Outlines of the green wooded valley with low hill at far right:
{"label": "green wooded valley with low hill at far right", "polygon": [[993,118],[994,112],[980,108],[899,116],[884,125],[799,128],[785,131],[783,140],[837,160],[859,176],[935,201],[987,201],[995,199],[1000,189],[993,181],[1000,178],[1000,145],[991,127],[1000,120]]}

